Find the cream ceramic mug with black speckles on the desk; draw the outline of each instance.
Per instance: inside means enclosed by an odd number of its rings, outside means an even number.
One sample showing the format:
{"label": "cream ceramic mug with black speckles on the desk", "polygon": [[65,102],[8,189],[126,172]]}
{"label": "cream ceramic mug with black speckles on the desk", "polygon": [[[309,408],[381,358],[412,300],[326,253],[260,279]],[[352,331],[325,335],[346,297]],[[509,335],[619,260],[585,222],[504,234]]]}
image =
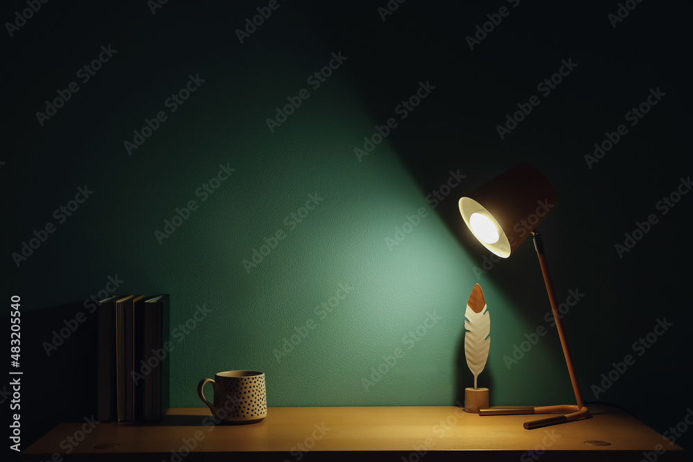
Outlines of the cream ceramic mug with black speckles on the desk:
{"label": "cream ceramic mug with black speckles on the desk", "polygon": [[[202,389],[211,382],[213,404],[204,398]],[[267,416],[265,374],[258,371],[225,371],[214,379],[202,379],[198,396],[212,415],[228,423],[257,423]]]}

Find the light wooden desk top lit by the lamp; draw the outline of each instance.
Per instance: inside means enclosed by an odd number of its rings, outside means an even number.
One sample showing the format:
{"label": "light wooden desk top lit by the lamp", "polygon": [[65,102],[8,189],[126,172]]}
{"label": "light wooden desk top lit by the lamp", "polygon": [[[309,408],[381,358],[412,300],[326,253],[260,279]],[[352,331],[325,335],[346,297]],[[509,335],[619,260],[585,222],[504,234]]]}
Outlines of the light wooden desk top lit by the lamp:
{"label": "light wooden desk top lit by the lamp", "polygon": [[523,422],[537,416],[482,417],[453,406],[274,407],[261,423],[216,426],[207,408],[177,408],[158,423],[97,424],[67,456],[66,438],[76,441],[89,426],[61,424],[22,457],[46,462],[54,453],[65,461],[638,462],[643,452],[651,452],[656,461],[683,461],[681,447],[624,411],[597,405],[590,411],[587,420],[525,430]]}

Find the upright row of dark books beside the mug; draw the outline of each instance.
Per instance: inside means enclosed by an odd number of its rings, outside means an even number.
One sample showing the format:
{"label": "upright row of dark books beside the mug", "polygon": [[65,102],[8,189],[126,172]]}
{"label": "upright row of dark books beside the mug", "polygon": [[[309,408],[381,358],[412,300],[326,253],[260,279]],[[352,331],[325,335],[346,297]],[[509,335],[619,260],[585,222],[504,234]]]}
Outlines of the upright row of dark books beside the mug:
{"label": "upright row of dark books beside the mug", "polygon": [[169,407],[168,295],[98,302],[96,420],[159,420]]}

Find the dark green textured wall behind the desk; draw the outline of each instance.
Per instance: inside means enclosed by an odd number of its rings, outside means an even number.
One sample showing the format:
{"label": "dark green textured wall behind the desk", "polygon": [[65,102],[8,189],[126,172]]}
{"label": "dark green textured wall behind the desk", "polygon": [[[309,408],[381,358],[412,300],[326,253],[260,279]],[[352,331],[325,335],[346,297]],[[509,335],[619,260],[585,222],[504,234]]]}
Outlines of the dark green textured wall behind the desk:
{"label": "dark green textured wall behind the desk", "polygon": [[[690,175],[687,5],[638,3],[615,21],[616,3],[409,1],[386,14],[384,1],[281,1],[243,34],[267,3],[152,4],[45,3],[5,37],[3,300],[22,297],[27,394],[46,371],[62,415],[89,412],[73,403],[93,386],[60,377],[89,377],[82,301],[110,278],[116,292],[171,294],[175,407],[200,407],[198,381],[236,368],[267,374],[270,406],[451,405],[472,380],[461,342],[478,282],[491,404],[572,402],[532,244],[492,262],[457,213],[461,195],[527,161],[559,197],[541,230],[559,301],[581,294],[565,323],[586,400],[660,432],[683,418],[690,246],[678,242],[693,199],[666,213],[659,201]],[[502,21],[484,35],[486,15]],[[626,114],[648,98],[642,118]],[[613,148],[586,159],[619,125]],[[615,247],[649,215],[632,249]],[[13,257],[34,231],[45,242]],[[76,332],[46,347],[80,311]],[[669,389],[666,409],[647,404],[651,387]],[[36,437],[60,417],[30,420]]]}

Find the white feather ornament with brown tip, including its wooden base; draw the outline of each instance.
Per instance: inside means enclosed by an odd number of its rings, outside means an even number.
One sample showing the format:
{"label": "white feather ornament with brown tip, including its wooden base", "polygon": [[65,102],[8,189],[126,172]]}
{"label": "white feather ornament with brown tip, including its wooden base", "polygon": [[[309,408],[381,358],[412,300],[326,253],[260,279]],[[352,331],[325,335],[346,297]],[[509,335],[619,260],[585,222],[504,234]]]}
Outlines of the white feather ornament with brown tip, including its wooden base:
{"label": "white feather ornament with brown tip, including its wooden base", "polygon": [[486,366],[491,347],[491,314],[486,307],[484,291],[474,285],[464,312],[464,357],[469,370],[474,374],[474,388],[464,389],[464,410],[479,414],[479,409],[489,408],[489,389],[477,388],[477,377]]}

